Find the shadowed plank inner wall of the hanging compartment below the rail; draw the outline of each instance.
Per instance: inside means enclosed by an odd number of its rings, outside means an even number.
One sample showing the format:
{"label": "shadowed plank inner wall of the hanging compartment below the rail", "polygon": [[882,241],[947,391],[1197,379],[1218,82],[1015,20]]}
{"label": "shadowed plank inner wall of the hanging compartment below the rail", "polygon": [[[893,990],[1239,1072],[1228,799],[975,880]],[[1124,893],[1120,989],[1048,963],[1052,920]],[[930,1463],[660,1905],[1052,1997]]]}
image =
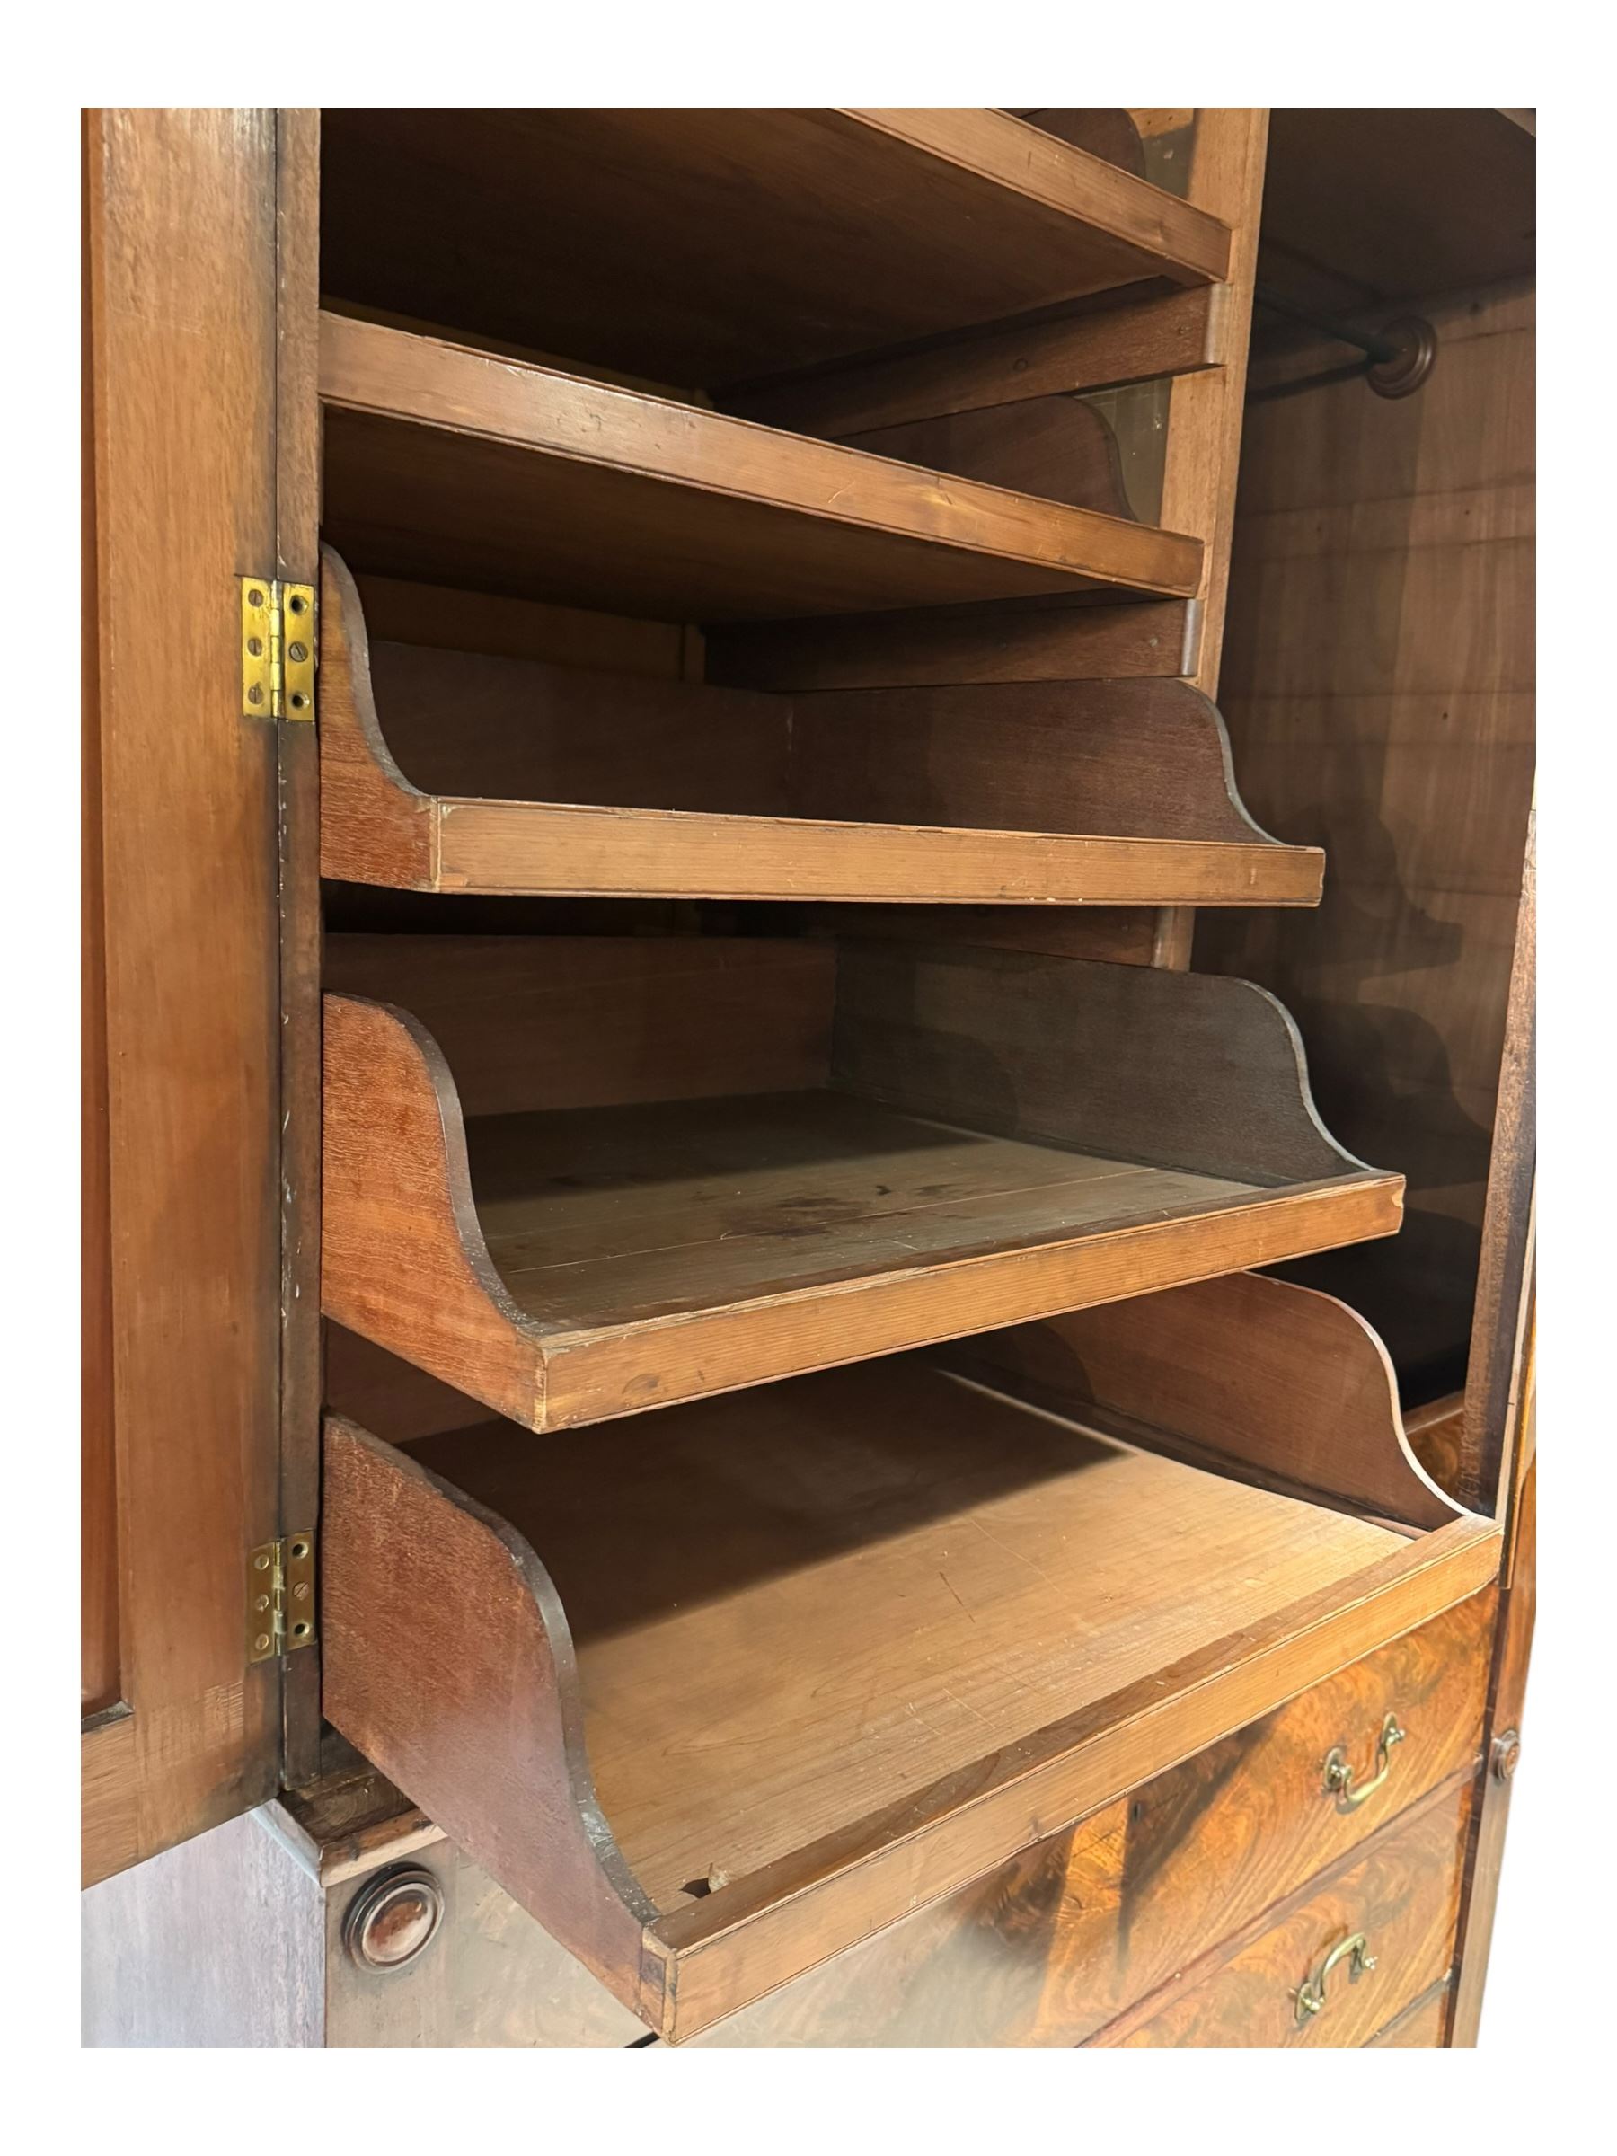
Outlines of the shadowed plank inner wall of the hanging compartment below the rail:
{"label": "shadowed plank inner wall of the hanging compartment below the rail", "polygon": [[[1533,298],[1423,306],[1442,360],[1419,397],[1250,405],[1220,705],[1253,813],[1330,877],[1300,936],[1203,914],[1197,938],[1296,1013],[1330,1128],[1410,1177],[1395,1246],[1307,1274],[1371,1319],[1410,1401],[1466,1378],[1535,755]],[[1494,1408],[1466,1438],[1470,1505],[1498,1432]]]}

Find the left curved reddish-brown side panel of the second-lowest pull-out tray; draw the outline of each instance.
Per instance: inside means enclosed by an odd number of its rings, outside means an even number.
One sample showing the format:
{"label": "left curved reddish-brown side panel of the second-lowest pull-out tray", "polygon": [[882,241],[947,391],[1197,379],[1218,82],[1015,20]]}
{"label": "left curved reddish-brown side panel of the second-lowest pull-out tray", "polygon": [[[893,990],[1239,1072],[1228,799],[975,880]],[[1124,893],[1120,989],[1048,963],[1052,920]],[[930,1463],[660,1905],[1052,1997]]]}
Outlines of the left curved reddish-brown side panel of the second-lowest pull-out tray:
{"label": "left curved reddish-brown side panel of the second-lowest pull-out tray", "polygon": [[358,996],[326,996],[321,1220],[328,1317],[537,1427],[543,1363],[483,1240],[455,1080],[407,1011]]}

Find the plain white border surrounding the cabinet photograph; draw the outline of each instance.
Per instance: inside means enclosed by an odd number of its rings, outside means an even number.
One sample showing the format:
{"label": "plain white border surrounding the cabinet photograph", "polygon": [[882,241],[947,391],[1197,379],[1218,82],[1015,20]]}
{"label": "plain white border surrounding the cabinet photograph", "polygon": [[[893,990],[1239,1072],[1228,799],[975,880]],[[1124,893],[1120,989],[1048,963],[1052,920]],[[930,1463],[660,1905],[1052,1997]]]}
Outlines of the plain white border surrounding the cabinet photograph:
{"label": "plain white border surrounding the cabinet photograph", "polygon": [[[1591,9],[13,11],[4,196],[6,1906],[13,2145],[459,2156],[1580,2147],[1613,2044],[1611,54]],[[1475,2053],[78,2053],[78,106],[1539,108],[1539,1645]],[[160,843],[162,834],[153,834]],[[1548,2070],[1546,2070],[1548,2068]],[[1602,2132],[1604,2139],[1604,2132]]]}

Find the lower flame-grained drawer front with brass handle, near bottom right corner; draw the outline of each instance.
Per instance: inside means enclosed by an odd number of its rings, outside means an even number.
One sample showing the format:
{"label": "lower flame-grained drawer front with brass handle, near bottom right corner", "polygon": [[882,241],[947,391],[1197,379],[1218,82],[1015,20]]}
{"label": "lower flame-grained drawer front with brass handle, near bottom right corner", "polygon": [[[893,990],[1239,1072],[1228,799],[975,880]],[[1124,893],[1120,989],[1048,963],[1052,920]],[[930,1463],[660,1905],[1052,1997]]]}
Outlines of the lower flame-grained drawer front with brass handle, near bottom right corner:
{"label": "lower flame-grained drawer front with brass handle, near bottom right corner", "polygon": [[1151,2001],[1134,2007],[1100,2044],[1123,2050],[1369,2044],[1449,1971],[1473,1792],[1470,1777],[1449,1783],[1212,1975],[1188,1981],[1162,2007]]}

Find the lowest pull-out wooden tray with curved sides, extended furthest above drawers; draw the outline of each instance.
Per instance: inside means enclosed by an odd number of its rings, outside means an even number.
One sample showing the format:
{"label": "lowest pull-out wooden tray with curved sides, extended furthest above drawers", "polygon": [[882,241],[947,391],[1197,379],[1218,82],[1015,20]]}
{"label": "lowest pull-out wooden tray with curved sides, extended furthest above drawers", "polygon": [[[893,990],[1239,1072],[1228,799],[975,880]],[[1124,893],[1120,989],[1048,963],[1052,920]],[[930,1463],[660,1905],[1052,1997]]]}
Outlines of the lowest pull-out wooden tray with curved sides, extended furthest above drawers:
{"label": "lowest pull-out wooden tray with curved sides, extended furthest above drawers", "polygon": [[[901,1356],[688,1404],[655,1442],[459,1427],[358,1345],[334,1335],[326,1714],[671,2040],[1498,1561],[1414,1462],[1376,1337],[1257,1276],[987,1335],[951,1350],[966,1378]],[[1453,1755],[1419,1673],[1397,1708],[1408,1805]],[[1266,1796],[1324,1865],[1384,1813],[1322,1766],[1298,1749]]]}

